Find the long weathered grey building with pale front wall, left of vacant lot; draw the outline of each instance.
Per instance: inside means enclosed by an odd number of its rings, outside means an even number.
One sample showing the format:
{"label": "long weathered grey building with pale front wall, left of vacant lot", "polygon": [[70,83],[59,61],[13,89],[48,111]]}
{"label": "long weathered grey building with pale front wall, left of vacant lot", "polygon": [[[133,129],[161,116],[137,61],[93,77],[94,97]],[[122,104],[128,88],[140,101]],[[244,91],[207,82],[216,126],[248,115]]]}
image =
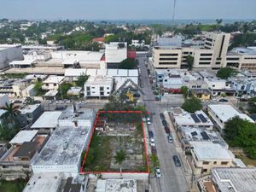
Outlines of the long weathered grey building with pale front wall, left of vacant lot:
{"label": "long weathered grey building with pale front wall, left of vacant lot", "polygon": [[92,127],[56,129],[44,148],[32,161],[32,171],[70,172],[77,175],[81,166],[81,155],[90,140]]}

